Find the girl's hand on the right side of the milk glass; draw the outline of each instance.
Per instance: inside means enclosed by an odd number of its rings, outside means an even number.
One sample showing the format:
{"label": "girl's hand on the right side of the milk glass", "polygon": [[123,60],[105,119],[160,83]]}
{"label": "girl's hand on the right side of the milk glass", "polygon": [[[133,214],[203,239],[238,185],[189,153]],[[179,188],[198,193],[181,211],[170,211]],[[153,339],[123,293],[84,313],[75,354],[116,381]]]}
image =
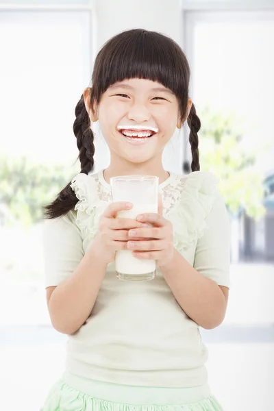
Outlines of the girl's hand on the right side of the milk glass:
{"label": "girl's hand on the right side of the milk glass", "polygon": [[[133,251],[134,257],[156,260],[158,266],[168,264],[174,256],[173,225],[162,216],[162,198],[158,214],[140,214],[137,220],[150,223],[153,227],[130,229],[128,234],[131,240],[127,242],[127,249]],[[145,240],[137,240],[144,238]]]}

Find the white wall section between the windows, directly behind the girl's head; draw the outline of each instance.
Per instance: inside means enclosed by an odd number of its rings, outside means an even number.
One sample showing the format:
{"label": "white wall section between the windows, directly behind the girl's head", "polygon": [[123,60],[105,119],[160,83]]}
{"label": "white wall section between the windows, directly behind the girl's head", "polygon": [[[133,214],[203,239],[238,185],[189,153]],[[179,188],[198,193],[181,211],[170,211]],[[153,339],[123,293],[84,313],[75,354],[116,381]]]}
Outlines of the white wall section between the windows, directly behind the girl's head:
{"label": "white wall section between the windows, directly behind the girl's head", "polygon": [[[179,0],[94,0],[95,11],[95,49],[96,55],[103,44],[115,34],[127,29],[143,28],[171,36],[182,47],[182,8]],[[93,127],[92,127],[93,128]],[[95,143],[95,170],[108,164],[108,147],[99,134],[97,125]],[[182,172],[183,129],[175,132],[164,149],[164,167],[166,170]]]}

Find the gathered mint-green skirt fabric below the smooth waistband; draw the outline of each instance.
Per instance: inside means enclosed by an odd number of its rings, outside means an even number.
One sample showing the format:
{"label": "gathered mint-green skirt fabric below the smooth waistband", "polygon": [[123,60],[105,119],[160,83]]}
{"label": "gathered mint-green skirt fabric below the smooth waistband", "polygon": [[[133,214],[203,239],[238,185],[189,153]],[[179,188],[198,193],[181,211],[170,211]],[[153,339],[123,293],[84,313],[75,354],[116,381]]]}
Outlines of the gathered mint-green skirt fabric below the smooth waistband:
{"label": "gathered mint-green skirt fabric below the smooth waistband", "polygon": [[125,404],[112,401],[105,401],[95,397],[90,397],[81,393],[75,388],[60,379],[56,382],[49,394],[45,404],[40,411],[223,411],[216,398],[211,395],[206,399],[195,401],[189,404],[157,406],[151,404]]}

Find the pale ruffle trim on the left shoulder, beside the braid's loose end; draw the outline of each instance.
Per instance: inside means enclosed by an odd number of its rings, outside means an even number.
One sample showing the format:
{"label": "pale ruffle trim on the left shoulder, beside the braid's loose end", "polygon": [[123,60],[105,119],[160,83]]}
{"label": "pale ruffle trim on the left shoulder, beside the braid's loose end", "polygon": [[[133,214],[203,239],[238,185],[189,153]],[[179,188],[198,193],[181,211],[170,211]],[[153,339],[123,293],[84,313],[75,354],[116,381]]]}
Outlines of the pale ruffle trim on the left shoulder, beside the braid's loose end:
{"label": "pale ruffle trim on the left shoulder, beside the braid's loose end", "polygon": [[89,238],[93,238],[97,233],[99,218],[109,202],[99,199],[95,179],[89,175],[77,174],[72,179],[70,186],[79,199],[75,205],[76,224],[86,232]]}

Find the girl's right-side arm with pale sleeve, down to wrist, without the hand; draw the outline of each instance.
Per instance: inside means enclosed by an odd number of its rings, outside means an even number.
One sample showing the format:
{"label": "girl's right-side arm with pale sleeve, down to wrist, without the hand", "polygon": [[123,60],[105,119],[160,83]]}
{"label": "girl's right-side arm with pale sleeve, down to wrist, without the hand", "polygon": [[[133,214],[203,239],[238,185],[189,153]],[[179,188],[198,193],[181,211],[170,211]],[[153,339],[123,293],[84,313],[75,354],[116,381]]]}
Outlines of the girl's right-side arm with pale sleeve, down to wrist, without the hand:
{"label": "girl's right-side arm with pale sleeve, down to wrist, without the hand", "polygon": [[212,329],[225,318],[229,293],[230,226],[220,193],[207,225],[197,240],[193,266],[175,251],[161,270],[186,314],[201,327]]}

